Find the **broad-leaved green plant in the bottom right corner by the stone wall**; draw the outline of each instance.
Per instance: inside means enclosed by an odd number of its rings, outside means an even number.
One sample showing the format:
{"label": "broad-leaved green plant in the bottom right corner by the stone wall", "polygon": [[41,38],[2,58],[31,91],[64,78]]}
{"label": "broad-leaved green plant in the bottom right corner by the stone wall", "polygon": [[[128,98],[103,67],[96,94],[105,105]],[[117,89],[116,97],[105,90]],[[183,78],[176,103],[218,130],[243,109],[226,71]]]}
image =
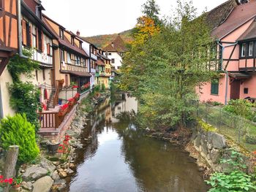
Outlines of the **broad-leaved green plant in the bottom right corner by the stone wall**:
{"label": "broad-leaved green plant in the bottom right corner by the stone wall", "polygon": [[210,180],[206,181],[212,187],[209,192],[252,192],[256,190],[253,177],[244,172],[246,165],[241,153],[231,150],[230,158],[222,159],[221,163],[228,164],[230,168],[227,169],[227,172],[211,174]]}

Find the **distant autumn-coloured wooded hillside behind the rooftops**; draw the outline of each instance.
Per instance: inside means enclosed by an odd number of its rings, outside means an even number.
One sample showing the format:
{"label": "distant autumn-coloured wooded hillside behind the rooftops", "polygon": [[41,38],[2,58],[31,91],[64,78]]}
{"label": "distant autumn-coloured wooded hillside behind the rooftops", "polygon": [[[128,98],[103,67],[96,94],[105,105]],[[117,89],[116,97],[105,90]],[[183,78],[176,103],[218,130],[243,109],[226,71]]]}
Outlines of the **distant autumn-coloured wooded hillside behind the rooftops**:
{"label": "distant autumn-coloured wooded hillside behind the rooftops", "polygon": [[[129,29],[127,31],[123,31],[119,33],[121,38],[124,39],[124,42],[129,43],[132,41],[132,29]],[[105,35],[97,35],[93,37],[83,37],[83,39],[86,39],[88,42],[91,42],[97,47],[104,48],[108,44],[110,44],[118,34],[105,34]]]}

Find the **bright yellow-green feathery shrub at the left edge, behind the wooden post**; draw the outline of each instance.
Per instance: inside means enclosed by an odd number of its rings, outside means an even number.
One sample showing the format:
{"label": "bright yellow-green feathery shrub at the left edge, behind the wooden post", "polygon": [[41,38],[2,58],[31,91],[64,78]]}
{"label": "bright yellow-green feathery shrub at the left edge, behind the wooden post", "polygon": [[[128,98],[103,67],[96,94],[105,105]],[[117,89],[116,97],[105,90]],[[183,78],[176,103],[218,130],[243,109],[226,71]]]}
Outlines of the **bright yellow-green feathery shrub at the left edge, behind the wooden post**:
{"label": "bright yellow-green feathery shrub at the left edge, behind the wooden post", "polygon": [[17,114],[14,117],[7,117],[1,120],[0,145],[5,150],[10,145],[18,145],[18,163],[33,161],[39,154],[34,125],[29,123],[26,115]]}

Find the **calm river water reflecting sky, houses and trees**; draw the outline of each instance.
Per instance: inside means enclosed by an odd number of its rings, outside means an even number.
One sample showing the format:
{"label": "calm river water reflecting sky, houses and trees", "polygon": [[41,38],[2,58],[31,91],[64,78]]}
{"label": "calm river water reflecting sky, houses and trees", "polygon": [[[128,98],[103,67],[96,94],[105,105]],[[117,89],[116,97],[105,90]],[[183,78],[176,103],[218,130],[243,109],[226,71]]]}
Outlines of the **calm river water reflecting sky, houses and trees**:
{"label": "calm river water reflecting sky, houses and trees", "polygon": [[134,98],[121,96],[95,112],[83,137],[92,143],[78,153],[69,191],[203,192],[206,185],[192,158],[179,147],[145,137],[118,114],[138,111]]}

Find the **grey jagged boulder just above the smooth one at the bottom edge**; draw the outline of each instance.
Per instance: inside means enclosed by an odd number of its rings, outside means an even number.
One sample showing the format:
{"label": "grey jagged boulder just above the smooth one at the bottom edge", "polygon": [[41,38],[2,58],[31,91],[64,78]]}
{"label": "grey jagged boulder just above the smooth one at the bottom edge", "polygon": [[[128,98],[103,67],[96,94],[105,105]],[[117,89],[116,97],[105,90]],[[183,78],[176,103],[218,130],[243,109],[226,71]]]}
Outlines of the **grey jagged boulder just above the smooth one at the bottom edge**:
{"label": "grey jagged boulder just above the smooth one at the bottom edge", "polygon": [[23,181],[37,180],[48,174],[48,170],[40,166],[31,166],[22,175]]}

